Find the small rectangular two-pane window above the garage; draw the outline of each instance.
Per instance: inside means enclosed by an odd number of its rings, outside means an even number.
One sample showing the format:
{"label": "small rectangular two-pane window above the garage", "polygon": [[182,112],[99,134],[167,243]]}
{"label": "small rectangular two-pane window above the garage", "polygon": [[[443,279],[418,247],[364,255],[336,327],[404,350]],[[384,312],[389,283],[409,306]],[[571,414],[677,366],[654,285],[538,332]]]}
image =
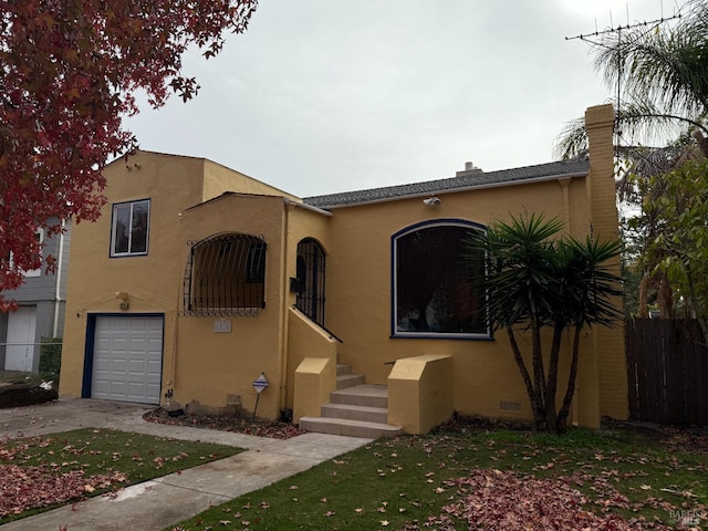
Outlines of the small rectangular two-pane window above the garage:
{"label": "small rectangular two-pane window above the garage", "polygon": [[149,199],[113,205],[111,256],[132,257],[147,254],[149,225]]}

